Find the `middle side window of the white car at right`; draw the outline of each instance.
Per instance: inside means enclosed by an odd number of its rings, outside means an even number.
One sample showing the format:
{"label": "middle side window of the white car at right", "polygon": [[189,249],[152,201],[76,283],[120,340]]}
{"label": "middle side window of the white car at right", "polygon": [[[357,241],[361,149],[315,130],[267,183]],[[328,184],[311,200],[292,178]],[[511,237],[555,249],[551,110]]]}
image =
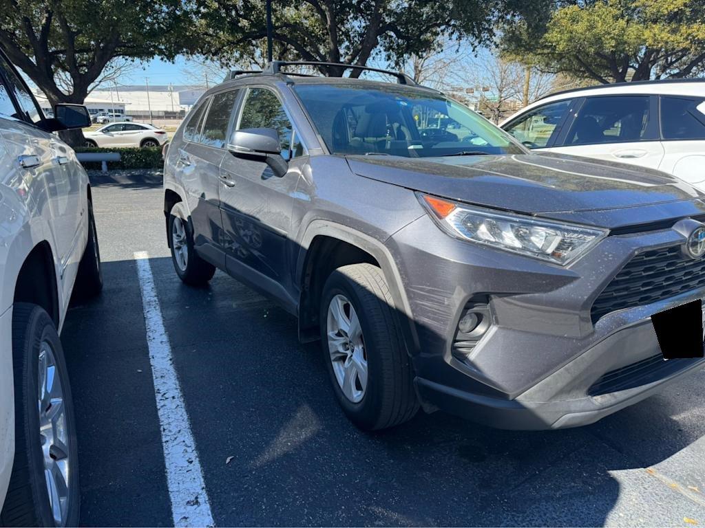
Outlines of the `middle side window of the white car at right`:
{"label": "middle side window of the white car at right", "polygon": [[649,96],[589,97],[572,124],[565,146],[657,139],[649,127]]}

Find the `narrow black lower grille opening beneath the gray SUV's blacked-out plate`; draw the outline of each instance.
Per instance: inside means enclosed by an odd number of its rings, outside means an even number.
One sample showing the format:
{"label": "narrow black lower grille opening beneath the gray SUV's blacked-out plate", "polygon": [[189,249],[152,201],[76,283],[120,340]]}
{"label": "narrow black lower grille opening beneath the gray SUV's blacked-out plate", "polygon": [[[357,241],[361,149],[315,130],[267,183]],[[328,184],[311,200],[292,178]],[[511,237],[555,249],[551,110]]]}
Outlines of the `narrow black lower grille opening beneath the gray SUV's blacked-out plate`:
{"label": "narrow black lower grille opening beneath the gray SUV's blacked-out plate", "polygon": [[673,375],[697,362],[704,363],[704,360],[671,359],[664,361],[661,354],[651,356],[651,358],[607,372],[588,389],[587,394],[599,396],[600,394],[633,389],[637,386],[657,382],[659,379]]}

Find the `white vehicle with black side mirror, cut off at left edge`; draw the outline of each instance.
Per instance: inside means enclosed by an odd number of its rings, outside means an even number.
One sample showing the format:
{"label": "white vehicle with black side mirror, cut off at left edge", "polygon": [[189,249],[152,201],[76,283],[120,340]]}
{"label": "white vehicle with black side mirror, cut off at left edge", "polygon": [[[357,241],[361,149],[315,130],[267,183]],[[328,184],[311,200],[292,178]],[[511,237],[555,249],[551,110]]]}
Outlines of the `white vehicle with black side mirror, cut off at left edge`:
{"label": "white vehicle with black side mirror, cut off at left edge", "polygon": [[73,293],[102,288],[90,182],[0,52],[0,526],[76,526],[73,401],[59,331]]}

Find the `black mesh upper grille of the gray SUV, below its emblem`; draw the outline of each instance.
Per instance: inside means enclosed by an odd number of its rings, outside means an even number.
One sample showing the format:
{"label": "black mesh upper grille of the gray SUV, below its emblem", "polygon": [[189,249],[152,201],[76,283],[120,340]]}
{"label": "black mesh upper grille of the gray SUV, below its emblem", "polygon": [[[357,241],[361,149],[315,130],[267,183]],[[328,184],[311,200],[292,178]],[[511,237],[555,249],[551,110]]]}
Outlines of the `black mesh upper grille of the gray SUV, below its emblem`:
{"label": "black mesh upper grille of the gray SUV, below its emblem", "polygon": [[592,322],[615,310],[644,304],[705,287],[705,258],[682,256],[679,246],[639,253],[612,279],[590,312]]}

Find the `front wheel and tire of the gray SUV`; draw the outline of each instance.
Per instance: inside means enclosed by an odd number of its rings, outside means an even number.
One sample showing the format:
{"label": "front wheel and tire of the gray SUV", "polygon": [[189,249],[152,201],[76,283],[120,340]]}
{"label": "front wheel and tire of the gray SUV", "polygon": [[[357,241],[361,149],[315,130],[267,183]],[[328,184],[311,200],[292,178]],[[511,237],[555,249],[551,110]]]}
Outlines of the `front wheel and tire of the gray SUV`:
{"label": "front wheel and tire of the gray SUV", "polygon": [[[346,337],[342,330],[336,332],[336,318],[329,311],[335,303],[341,307],[348,322],[353,320],[350,310],[354,310],[362,332],[359,338],[355,335]],[[413,368],[394,317],[393,306],[384,275],[372,264],[338,268],[326,280],[321,296],[321,348],[333,391],[350,421],[367,431],[399,425],[410,420],[419,409]],[[350,324],[350,328],[354,326]],[[331,338],[335,342],[349,338],[348,344],[343,344],[342,348],[331,344],[329,333],[335,336]],[[353,353],[350,353],[351,348],[354,348]],[[342,360],[343,354],[349,354],[348,358]],[[337,359],[334,360],[334,356]],[[355,375],[345,377],[348,370],[341,365],[346,363],[357,365],[357,379]],[[363,383],[360,370],[364,370],[364,365],[367,365],[367,376]],[[346,384],[348,379],[353,379],[353,382]],[[343,386],[348,389],[343,389]]]}

